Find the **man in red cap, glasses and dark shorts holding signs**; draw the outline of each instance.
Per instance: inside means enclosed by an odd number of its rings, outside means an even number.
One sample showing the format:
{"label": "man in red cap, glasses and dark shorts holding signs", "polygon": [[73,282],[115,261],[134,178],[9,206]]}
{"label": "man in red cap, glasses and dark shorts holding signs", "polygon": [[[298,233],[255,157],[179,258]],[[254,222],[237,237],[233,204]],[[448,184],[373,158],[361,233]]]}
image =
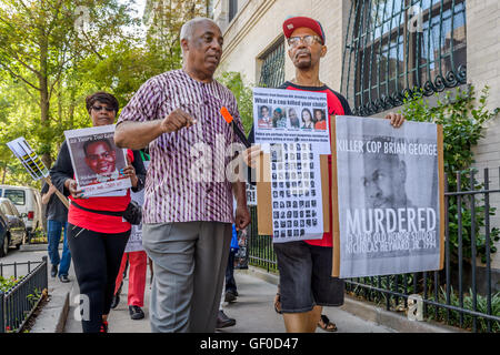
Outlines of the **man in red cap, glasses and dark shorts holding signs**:
{"label": "man in red cap, glasses and dark shorts holding signs", "polygon": [[[326,36],[321,24],[310,18],[294,17],[283,22],[283,33],[289,44],[288,54],[296,67],[296,77],[279,89],[326,92],[328,124],[331,115],[352,115],[348,101],[319,78],[320,60],[327,54]],[[386,119],[389,119],[394,128],[399,128],[404,121],[401,114],[396,113],[389,113]],[[254,141],[253,130],[249,141]],[[248,164],[254,168],[260,148],[252,146],[247,154]],[[331,155],[328,163],[330,172]],[[329,185],[331,191],[331,175]],[[329,201],[331,211],[331,196]],[[327,331],[336,329],[334,324],[329,324],[328,318],[321,315],[323,306],[343,304],[343,281],[331,277],[332,246],[331,233],[324,233],[321,240],[273,245],[280,271],[278,303],[281,305],[280,313],[283,314],[287,332],[312,333],[319,322],[323,323],[322,327]],[[277,310],[279,311],[278,307]]]}

